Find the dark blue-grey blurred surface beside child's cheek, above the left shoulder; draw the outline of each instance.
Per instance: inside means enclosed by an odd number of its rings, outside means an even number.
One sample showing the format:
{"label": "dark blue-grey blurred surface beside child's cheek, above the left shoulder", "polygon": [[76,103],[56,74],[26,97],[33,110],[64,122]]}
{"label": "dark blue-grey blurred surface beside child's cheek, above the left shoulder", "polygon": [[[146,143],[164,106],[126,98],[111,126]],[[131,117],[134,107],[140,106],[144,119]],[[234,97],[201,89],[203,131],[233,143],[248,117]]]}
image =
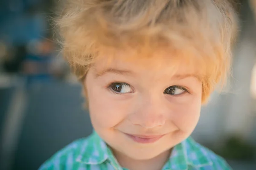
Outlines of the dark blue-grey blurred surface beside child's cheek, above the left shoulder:
{"label": "dark blue-grey blurred surface beside child's cheek, above the left shoulder", "polygon": [[13,170],[35,170],[56,151],[92,132],[80,92],[80,86],[60,82],[29,88]]}

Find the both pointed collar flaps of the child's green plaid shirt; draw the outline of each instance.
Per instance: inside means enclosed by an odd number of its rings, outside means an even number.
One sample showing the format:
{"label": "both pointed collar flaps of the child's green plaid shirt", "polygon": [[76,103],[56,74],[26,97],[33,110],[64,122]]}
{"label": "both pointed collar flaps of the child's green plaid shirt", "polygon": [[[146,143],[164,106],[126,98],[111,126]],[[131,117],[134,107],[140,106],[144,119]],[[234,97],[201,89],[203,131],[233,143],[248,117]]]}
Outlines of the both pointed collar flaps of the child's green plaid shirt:
{"label": "both pointed collar flaps of the child's green plaid shirt", "polygon": [[[76,161],[84,164],[102,164],[110,161],[116,170],[122,170],[111,149],[95,131],[82,145]],[[199,168],[212,164],[207,149],[189,137],[173,148],[170,159],[164,165],[163,170],[187,170],[189,165]]]}

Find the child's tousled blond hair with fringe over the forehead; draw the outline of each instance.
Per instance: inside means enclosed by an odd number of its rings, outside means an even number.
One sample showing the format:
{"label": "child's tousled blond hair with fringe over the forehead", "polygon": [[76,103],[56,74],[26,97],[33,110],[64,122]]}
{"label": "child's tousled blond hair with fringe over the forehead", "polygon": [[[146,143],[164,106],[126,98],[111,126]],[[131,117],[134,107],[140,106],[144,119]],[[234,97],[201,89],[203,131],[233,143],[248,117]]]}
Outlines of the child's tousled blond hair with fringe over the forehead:
{"label": "child's tousled blond hair with fringe over the forehead", "polygon": [[204,102],[230,72],[236,13],[228,0],[66,0],[56,21],[63,55],[79,79],[102,54],[183,51],[183,59],[204,69]]}

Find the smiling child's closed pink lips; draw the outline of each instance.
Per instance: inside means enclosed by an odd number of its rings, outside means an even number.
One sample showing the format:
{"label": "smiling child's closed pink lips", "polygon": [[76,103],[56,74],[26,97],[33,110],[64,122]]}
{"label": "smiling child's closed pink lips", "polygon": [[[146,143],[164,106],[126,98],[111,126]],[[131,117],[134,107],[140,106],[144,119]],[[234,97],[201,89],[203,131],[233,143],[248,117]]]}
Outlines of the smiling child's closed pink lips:
{"label": "smiling child's closed pink lips", "polygon": [[164,135],[154,135],[154,136],[144,136],[144,135],[132,135],[125,133],[130,139],[134,140],[134,142],[142,143],[142,144],[149,144],[157,142],[161,139]]}

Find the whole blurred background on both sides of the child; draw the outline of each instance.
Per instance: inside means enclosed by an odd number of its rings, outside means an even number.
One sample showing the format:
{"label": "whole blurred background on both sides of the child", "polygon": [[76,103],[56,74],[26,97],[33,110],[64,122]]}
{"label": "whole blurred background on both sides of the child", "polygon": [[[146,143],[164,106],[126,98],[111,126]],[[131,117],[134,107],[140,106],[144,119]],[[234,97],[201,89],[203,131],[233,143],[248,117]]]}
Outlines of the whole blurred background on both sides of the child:
{"label": "whole blurred background on both sides of the child", "polygon": [[[92,132],[81,86],[55,43],[53,0],[0,0],[0,170],[36,170]],[[233,78],[192,136],[234,170],[256,170],[256,8],[241,0]]]}

